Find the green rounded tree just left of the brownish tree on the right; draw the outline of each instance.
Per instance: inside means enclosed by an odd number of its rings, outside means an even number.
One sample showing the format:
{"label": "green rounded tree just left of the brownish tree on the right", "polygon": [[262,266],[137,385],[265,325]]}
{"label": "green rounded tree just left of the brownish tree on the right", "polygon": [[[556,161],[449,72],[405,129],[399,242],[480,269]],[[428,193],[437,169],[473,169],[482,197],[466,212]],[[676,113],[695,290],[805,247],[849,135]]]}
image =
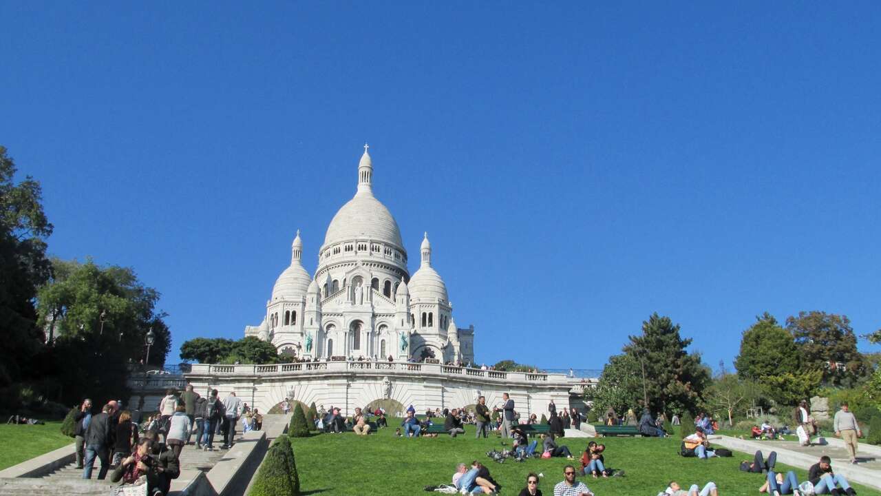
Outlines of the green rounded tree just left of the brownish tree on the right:
{"label": "green rounded tree just left of the brownish tree on the right", "polygon": [[765,312],[744,331],[740,339],[740,355],[734,366],[741,378],[760,380],[768,375],[798,372],[800,357],[792,334],[781,327],[774,316]]}

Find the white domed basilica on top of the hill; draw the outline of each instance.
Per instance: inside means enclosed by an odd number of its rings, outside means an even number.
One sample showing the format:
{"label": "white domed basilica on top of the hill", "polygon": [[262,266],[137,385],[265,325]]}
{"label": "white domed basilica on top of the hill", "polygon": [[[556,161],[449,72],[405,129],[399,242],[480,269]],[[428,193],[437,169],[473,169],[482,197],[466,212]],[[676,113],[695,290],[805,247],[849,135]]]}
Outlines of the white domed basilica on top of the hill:
{"label": "white domed basilica on top of the hill", "polygon": [[474,327],[458,328],[447,286],[432,267],[428,236],[419,269],[410,275],[401,232],[374,197],[367,146],[358,165],[358,191],[339,209],[310,277],[300,263],[300,231],[291,266],[278,276],[260,326],[245,335],[270,341],[296,357],[474,361]]}

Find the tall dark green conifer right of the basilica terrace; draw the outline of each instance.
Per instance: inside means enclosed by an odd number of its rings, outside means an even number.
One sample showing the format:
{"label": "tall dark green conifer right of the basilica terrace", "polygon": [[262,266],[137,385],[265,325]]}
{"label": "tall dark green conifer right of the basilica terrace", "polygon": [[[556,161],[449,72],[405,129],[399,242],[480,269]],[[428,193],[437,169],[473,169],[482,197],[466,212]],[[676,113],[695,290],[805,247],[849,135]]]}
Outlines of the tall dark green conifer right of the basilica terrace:
{"label": "tall dark green conifer right of the basilica terrace", "polygon": [[710,372],[701,364],[700,354],[685,350],[691,343],[679,335],[678,324],[657,313],[642,322],[641,335],[630,336],[624,352],[640,367],[640,382],[646,390],[643,395],[648,395],[651,411],[697,409]]}

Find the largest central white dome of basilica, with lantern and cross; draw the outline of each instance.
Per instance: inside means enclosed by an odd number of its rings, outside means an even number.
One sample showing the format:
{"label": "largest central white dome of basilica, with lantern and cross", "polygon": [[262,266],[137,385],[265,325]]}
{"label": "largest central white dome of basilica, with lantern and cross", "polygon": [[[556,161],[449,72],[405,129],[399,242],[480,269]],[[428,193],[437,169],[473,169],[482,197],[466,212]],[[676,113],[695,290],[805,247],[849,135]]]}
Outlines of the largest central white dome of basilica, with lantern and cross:
{"label": "largest central white dome of basilica, with lantern and cross", "polygon": [[370,239],[373,241],[393,244],[403,249],[401,231],[389,209],[374,197],[373,163],[366,149],[359,162],[358,192],[339,209],[328,226],[324,236],[324,246],[352,241],[354,239]]}

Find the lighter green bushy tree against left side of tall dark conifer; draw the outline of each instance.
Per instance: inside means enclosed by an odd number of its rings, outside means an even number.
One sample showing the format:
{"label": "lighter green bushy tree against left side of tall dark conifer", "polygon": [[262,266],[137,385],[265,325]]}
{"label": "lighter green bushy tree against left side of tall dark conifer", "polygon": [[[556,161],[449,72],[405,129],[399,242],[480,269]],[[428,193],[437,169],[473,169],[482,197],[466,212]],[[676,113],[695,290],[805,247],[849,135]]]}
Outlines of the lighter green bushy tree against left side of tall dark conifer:
{"label": "lighter green bushy tree against left side of tall dark conifer", "polygon": [[596,387],[585,387],[585,399],[594,402],[594,409],[626,411],[639,404],[643,396],[639,361],[631,355],[614,355],[603,366]]}

